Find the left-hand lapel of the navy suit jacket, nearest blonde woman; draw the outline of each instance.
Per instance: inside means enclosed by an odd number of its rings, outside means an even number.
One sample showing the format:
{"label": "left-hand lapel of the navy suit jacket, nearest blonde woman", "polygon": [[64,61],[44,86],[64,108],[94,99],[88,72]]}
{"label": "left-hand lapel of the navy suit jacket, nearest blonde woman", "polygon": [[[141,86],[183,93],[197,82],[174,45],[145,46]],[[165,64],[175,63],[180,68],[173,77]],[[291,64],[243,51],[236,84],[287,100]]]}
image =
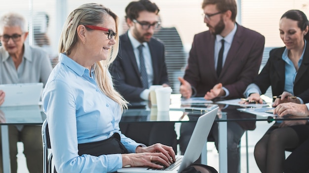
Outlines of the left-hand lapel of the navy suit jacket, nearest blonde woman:
{"label": "left-hand lapel of the navy suit jacket, nearest blonde woman", "polygon": [[[131,44],[131,41],[129,39],[128,36],[128,32],[126,32],[126,34],[123,35],[123,39],[121,40],[122,43],[119,44],[121,46],[123,46],[123,50],[125,50],[125,52],[127,53],[130,62],[132,63],[132,66],[134,67],[134,71],[137,74],[137,76],[139,76],[139,70],[138,70],[138,66],[137,66],[137,62],[136,62],[136,58],[135,58],[135,54],[133,51],[133,46]],[[123,54],[122,54],[123,55]]]}

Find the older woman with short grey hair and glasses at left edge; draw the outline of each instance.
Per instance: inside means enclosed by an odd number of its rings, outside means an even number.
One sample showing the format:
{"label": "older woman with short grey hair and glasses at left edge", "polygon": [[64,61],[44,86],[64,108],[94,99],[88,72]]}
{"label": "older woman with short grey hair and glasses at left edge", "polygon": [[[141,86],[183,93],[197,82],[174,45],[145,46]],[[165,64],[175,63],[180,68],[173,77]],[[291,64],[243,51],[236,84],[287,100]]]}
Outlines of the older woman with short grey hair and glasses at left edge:
{"label": "older woman with short grey hair and glasses at left edge", "polygon": [[[6,13],[0,18],[0,84],[46,84],[52,70],[48,55],[25,43],[28,25],[23,16]],[[0,105],[5,93],[0,90]],[[9,126],[11,172],[17,172],[16,143],[24,143],[24,154],[30,173],[41,173],[42,141],[40,126]],[[0,159],[2,156],[0,157]],[[2,161],[0,166],[2,167]]]}

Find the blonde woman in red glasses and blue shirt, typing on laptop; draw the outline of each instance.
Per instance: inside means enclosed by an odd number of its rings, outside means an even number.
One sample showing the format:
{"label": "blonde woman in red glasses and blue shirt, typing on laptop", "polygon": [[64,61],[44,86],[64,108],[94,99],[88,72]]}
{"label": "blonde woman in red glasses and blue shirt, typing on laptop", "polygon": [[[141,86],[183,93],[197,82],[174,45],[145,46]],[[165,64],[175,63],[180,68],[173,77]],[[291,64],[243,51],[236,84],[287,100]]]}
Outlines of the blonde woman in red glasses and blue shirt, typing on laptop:
{"label": "blonde woman in red glasses and blue shirt, typing on laptop", "polygon": [[125,137],[119,121],[127,102],[108,71],[118,52],[118,17],[96,3],[79,6],[64,24],[59,63],[42,94],[58,173],[111,173],[123,166],[168,166],[173,148],[146,147]]}

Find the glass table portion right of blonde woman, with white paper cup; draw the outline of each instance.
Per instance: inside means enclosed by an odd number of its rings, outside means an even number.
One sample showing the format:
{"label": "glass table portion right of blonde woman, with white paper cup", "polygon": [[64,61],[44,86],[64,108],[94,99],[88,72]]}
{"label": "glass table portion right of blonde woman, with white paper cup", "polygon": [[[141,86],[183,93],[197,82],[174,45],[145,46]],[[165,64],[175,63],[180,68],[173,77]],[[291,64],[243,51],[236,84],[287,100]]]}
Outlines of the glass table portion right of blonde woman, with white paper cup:
{"label": "glass table portion right of blonde woman, with white paper cup", "polygon": [[[137,108],[136,104],[130,109],[128,109],[121,118],[120,123],[129,123],[129,122],[140,122],[140,123],[149,123],[149,122],[196,122],[198,116],[205,113],[205,111],[189,111],[184,110],[181,106],[180,95],[172,94],[172,104],[170,105],[170,111],[168,112],[158,112],[155,106],[144,105],[143,108]],[[175,99],[176,98],[176,99]],[[228,155],[227,155],[227,123],[228,122],[237,122],[243,127],[245,130],[254,130],[255,129],[255,122],[256,121],[266,121],[272,122],[278,119],[279,117],[274,116],[269,113],[258,113],[258,114],[250,114],[250,110],[258,110],[259,107],[250,108],[248,107],[240,107],[234,105],[226,105],[226,104],[216,104],[220,107],[218,111],[218,115],[215,119],[215,122],[218,122],[218,141],[219,141],[219,172],[220,173],[227,173],[228,172]],[[194,105],[194,104],[193,104]],[[205,104],[199,104],[198,107],[203,107]],[[186,104],[188,107],[188,104]],[[192,105],[189,105],[191,107]],[[191,107],[192,108],[192,107]],[[271,108],[269,108],[271,109]],[[254,112],[254,111],[253,111]],[[295,118],[294,118],[295,119]],[[309,117],[302,117],[298,118],[298,120],[309,119]],[[289,116],[280,117],[280,120],[291,120]],[[193,124],[194,125],[194,124]],[[206,144],[201,154],[201,162],[202,164],[207,163],[207,150]]]}

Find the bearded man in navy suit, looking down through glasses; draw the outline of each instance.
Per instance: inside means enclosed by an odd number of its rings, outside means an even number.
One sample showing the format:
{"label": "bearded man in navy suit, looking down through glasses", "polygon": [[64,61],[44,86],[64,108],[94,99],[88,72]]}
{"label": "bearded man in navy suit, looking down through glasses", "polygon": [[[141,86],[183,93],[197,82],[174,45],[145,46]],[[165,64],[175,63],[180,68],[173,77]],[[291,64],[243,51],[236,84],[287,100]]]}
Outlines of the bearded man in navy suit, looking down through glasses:
{"label": "bearded man in navy suit, looking down through glasses", "polygon": [[[159,26],[158,12],[159,8],[150,0],[132,1],[125,8],[129,30],[119,37],[118,56],[110,71],[116,89],[130,103],[150,101],[152,85],[169,86],[164,45],[152,37]],[[161,143],[177,151],[172,122],[120,122],[119,126],[123,134],[136,142]]]}

